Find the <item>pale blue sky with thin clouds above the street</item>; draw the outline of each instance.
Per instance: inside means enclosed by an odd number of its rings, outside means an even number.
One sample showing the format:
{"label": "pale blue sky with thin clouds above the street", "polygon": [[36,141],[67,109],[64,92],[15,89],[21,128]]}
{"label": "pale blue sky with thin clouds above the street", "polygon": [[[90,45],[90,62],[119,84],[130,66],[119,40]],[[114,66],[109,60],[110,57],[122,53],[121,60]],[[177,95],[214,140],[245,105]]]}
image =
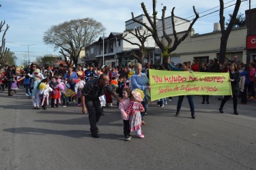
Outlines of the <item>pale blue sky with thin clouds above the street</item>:
{"label": "pale blue sky with thin clouds above the street", "polygon": [[[7,41],[5,46],[15,52],[18,57],[17,65],[23,63],[25,55],[27,55],[27,46],[20,46],[20,44],[36,44],[29,46],[30,61],[33,61],[36,56],[44,56],[44,54],[58,55],[58,51],[54,51],[51,46],[47,46],[43,42],[44,32],[53,25],[89,17],[102,22],[106,28],[105,35],[109,35],[111,32],[122,33],[125,29],[125,21],[131,18],[131,12],[134,12],[134,16],[143,14],[141,2],[145,3],[147,11],[152,14],[152,0],[2,0],[0,1],[0,20],[5,20],[6,24],[10,25],[5,36]],[[236,1],[229,0],[224,3],[231,5]],[[194,14],[193,5],[199,13],[216,7],[209,12],[200,14],[203,16],[218,10],[219,1],[158,0],[158,18],[162,14],[162,5],[167,6],[166,16],[170,16],[172,8],[175,7],[175,16],[187,18]],[[255,7],[256,0],[251,0],[251,8]],[[248,1],[242,2],[240,13],[244,14],[245,10],[248,10]],[[231,14],[232,11],[233,7],[225,9],[225,15]],[[218,12],[199,18],[193,27],[195,33],[212,32],[214,22],[218,22],[218,20]]]}

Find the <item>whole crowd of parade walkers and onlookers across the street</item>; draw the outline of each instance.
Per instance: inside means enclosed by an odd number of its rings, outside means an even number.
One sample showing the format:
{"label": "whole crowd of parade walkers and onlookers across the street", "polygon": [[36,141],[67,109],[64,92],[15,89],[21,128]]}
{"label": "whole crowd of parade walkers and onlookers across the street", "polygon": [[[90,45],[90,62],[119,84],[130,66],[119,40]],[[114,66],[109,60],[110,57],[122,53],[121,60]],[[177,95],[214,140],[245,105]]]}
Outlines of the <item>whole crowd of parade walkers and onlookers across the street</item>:
{"label": "whole crowd of parade walkers and onlookers across the street", "polygon": [[[50,65],[39,67],[32,63],[26,68],[16,69],[15,65],[0,69],[1,90],[8,89],[8,96],[12,91],[17,92],[20,86],[24,86],[26,93],[32,101],[33,109],[46,109],[48,100],[51,99],[51,107],[67,107],[70,103],[77,103],[82,107],[84,114],[89,114],[90,130],[92,137],[99,137],[97,122],[104,115],[104,107],[113,107],[112,96],[117,99],[117,107],[120,109],[124,122],[124,135],[126,140],[131,139],[130,132],[136,131],[137,137],[143,138],[141,125],[145,124],[144,116],[150,102],[150,81],[148,69],[160,69],[171,71],[202,71],[202,72],[229,72],[231,89],[233,93],[233,114],[238,115],[238,97],[242,104],[248,100],[255,100],[255,63],[244,64],[238,60],[225,61],[220,64],[218,60],[210,60],[209,63],[197,63],[189,61],[174,65],[169,60],[169,65],[145,66],[140,63],[135,65],[120,65],[119,67],[86,66],[77,67],[51,67]],[[219,112],[231,96],[222,97]],[[195,119],[195,105],[193,95],[187,95],[190,105],[191,118]],[[172,100],[171,97],[168,98]],[[175,116],[180,115],[184,95],[178,97]],[[208,95],[202,95],[201,104],[210,103]],[[167,99],[158,101],[159,107],[165,107]]]}

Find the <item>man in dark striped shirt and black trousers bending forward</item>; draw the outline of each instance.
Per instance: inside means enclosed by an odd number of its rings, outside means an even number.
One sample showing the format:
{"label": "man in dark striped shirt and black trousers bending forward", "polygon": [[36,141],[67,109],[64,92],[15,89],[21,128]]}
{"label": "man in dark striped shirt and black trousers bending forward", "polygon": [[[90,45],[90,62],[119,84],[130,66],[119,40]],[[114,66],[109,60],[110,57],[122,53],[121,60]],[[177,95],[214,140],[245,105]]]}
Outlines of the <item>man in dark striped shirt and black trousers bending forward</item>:
{"label": "man in dark striped shirt and black trousers bending forward", "polygon": [[100,116],[102,114],[99,97],[104,95],[106,92],[113,94],[117,101],[122,101],[122,99],[118,97],[113,86],[109,84],[109,76],[105,73],[102,73],[100,78],[88,81],[82,90],[82,112],[83,114],[87,114],[87,112],[89,114],[92,137],[99,137],[99,130],[96,124],[100,120]]}

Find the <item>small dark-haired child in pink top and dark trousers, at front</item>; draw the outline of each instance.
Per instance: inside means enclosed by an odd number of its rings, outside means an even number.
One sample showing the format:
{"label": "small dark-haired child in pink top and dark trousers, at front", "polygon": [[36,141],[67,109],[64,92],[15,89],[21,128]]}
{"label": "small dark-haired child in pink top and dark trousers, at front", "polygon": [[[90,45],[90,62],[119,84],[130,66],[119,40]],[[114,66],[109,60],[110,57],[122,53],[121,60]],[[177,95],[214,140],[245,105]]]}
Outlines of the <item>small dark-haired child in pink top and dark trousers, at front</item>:
{"label": "small dark-haired child in pink top and dark trousers, at front", "polygon": [[122,96],[123,96],[123,101],[119,103],[119,109],[121,111],[121,117],[124,122],[124,138],[126,141],[130,141],[132,138],[130,136],[130,124],[129,124],[129,118],[128,114],[126,114],[126,110],[128,109],[130,105],[130,95],[132,93],[131,88],[123,88]]}

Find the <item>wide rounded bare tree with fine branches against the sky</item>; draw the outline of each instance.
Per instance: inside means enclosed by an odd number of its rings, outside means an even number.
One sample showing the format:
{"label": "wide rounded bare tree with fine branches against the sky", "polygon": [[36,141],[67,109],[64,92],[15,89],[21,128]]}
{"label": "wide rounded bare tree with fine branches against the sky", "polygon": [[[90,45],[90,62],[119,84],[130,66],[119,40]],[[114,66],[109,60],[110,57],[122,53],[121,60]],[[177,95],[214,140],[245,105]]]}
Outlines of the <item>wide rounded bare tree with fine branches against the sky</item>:
{"label": "wide rounded bare tree with fine branches against the sky", "polygon": [[92,18],[70,20],[48,29],[44,33],[44,43],[55,50],[60,49],[67,65],[74,63],[77,66],[81,49],[94,42],[104,30],[102,24]]}

